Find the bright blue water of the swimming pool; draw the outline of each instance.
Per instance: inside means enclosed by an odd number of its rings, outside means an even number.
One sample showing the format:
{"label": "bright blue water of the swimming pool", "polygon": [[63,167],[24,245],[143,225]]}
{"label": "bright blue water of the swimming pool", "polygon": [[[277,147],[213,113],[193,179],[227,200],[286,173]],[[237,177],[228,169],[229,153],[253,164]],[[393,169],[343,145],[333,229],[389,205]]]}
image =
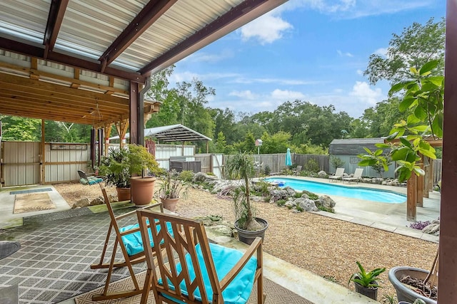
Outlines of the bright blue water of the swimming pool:
{"label": "bright blue water of the swimming pool", "polygon": [[268,177],[265,181],[277,182],[279,187],[291,187],[297,191],[306,190],[316,194],[345,196],[350,199],[366,199],[390,204],[401,204],[406,201],[406,196],[402,194],[361,187],[346,187],[338,184],[328,184],[328,182],[309,182],[303,179],[278,179],[273,177]]}

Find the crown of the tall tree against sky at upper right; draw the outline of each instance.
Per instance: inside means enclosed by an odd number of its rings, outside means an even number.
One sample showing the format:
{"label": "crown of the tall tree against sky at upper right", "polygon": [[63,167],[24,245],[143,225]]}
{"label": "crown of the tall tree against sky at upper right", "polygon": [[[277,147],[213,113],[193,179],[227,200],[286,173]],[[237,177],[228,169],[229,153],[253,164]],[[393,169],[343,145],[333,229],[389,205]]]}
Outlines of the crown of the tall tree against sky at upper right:
{"label": "crown of the tall tree against sky at upper right", "polygon": [[442,75],[445,30],[444,19],[434,23],[431,18],[424,25],[414,22],[400,35],[393,33],[386,58],[372,54],[363,75],[368,76],[372,85],[379,80],[398,83],[414,76],[411,67],[419,70],[431,60],[438,61],[436,68],[430,71],[431,75]]}

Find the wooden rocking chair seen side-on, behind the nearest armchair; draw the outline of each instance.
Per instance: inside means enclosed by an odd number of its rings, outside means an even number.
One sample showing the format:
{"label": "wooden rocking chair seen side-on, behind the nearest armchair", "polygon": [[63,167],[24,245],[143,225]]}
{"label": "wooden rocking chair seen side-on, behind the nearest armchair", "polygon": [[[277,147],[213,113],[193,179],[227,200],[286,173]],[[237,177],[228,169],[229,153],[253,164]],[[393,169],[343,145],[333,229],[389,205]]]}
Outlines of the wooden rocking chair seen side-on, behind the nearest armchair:
{"label": "wooden rocking chair seen side-on, behind the nearest armchair", "polygon": [[[99,263],[92,264],[91,269],[108,268],[108,273],[106,274],[106,282],[103,293],[99,295],[94,295],[92,297],[92,300],[110,300],[115,298],[125,298],[130,297],[132,295],[138,295],[142,291],[142,286],[140,286],[138,281],[136,280],[132,265],[144,262],[146,259],[144,254],[143,242],[141,241],[139,224],[119,227],[118,223],[120,219],[124,219],[128,216],[134,216],[136,214],[136,210],[127,212],[126,214],[121,214],[119,216],[114,216],[113,207],[111,206],[111,201],[109,201],[109,197],[106,194],[106,189],[104,189],[102,184],[100,184],[100,188],[106,202],[106,208],[108,209],[109,216],[111,217],[111,223],[109,224],[108,233],[106,234],[106,240],[103,251],[101,252],[100,261]],[[160,208],[160,211],[164,212],[164,208],[161,203],[143,207],[143,209],[151,208]],[[111,256],[107,256],[106,251],[110,243],[109,239],[111,236],[111,231],[113,230],[115,232],[113,252],[111,253]],[[153,245],[154,244],[151,243],[151,246]],[[124,257],[123,261],[115,261],[118,247],[121,248],[122,256]],[[105,258],[107,260],[109,259],[108,263],[105,263]],[[114,270],[114,268],[123,266],[127,266],[129,268],[129,273],[134,283],[134,288],[131,290],[124,290],[124,292],[122,293],[109,293],[108,287],[111,281],[112,271]]]}

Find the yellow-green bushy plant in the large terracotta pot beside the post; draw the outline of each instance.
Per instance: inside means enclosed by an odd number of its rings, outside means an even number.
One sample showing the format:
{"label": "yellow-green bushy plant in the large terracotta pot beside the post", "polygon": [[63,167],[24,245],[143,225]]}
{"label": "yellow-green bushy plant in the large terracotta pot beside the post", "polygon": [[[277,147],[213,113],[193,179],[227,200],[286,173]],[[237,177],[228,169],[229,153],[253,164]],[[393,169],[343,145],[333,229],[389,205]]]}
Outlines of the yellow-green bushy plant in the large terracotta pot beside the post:
{"label": "yellow-green bushy plant in the large terracotta pot beside the post", "polygon": [[[131,201],[136,205],[150,204],[154,195],[155,174],[161,171],[154,155],[141,145],[129,145]],[[152,175],[149,175],[149,174]]]}

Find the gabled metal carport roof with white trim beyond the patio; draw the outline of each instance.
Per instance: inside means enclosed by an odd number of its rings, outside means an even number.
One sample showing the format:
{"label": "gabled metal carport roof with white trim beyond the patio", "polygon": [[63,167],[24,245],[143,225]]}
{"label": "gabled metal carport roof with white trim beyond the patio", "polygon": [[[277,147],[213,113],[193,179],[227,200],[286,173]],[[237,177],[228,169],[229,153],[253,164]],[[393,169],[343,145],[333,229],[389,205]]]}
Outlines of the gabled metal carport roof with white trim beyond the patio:
{"label": "gabled metal carport roof with white trim beyond the patio", "polygon": [[[129,138],[130,134],[126,134]],[[144,129],[144,137],[154,137],[161,142],[199,142],[210,141],[211,138],[196,132],[184,125],[165,125]],[[110,140],[119,140],[119,136],[110,137]]]}

